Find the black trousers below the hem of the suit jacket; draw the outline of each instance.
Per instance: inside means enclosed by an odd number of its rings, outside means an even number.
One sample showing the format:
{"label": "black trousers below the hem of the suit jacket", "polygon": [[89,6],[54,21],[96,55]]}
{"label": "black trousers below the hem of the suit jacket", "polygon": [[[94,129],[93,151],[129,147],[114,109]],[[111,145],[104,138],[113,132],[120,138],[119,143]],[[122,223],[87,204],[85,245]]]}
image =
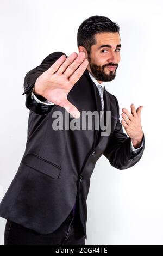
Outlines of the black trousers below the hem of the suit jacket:
{"label": "black trousers below the hem of the suit jacket", "polygon": [[70,212],[57,230],[46,235],[7,220],[4,245],[85,245],[78,207],[74,215],[73,211]]}

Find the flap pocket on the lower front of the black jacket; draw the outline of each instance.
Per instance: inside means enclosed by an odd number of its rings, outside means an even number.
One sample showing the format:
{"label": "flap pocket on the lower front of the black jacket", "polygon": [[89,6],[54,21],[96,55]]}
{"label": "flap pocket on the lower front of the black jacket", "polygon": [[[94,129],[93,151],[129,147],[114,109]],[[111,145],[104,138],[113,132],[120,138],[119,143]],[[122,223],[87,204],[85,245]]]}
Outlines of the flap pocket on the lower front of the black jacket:
{"label": "flap pocket on the lower front of the black jacket", "polygon": [[60,166],[49,162],[42,157],[35,155],[34,153],[28,153],[26,156],[24,156],[22,163],[33,168],[34,170],[37,170],[38,172],[50,176],[53,179],[58,179],[61,172]]}

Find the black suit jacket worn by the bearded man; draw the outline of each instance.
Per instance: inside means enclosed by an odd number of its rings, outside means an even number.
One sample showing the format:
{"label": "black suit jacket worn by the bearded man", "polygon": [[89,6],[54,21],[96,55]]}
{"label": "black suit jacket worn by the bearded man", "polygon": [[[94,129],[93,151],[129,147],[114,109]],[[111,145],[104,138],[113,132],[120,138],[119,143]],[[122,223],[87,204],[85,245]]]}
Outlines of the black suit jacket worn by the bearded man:
{"label": "black suit jacket worn by the bearded man", "polygon": [[[101,136],[98,130],[52,129],[53,112],[64,114],[65,109],[58,105],[37,103],[31,98],[31,92],[36,78],[62,54],[50,54],[24,78],[23,95],[26,95],[26,107],[30,110],[28,138],[20,166],[0,204],[0,216],[41,234],[48,234],[64,222],[77,197],[87,238],[86,199],[97,160],[104,154],[115,168],[130,168],[140,160],[145,143],[139,153],[131,153],[130,137],[123,132],[119,120],[118,101],[105,87],[105,112],[111,111],[109,136]],[[87,69],[68,93],[68,100],[81,113],[101,110],[98,89]]]}

